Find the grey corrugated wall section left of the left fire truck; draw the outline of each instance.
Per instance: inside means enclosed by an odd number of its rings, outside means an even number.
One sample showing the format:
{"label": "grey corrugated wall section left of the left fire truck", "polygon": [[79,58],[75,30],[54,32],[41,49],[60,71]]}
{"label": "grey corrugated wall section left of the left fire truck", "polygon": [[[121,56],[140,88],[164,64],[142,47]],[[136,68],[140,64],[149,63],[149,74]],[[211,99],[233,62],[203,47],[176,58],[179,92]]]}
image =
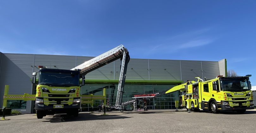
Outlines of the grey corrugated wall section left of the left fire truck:
{"label": "grey corrugated wall section left of the left fire truck", "polygon": [[[34,55],[32,54],[3,54],[0,76],[0,106],[3,106],[3,94],[5,85],[9,85],[9,94],[31,94],[32,66]],[[31,101],[27,101],[27,107],[22,113],[30,113]],[[20,109],[17,109],[20,111]]]}

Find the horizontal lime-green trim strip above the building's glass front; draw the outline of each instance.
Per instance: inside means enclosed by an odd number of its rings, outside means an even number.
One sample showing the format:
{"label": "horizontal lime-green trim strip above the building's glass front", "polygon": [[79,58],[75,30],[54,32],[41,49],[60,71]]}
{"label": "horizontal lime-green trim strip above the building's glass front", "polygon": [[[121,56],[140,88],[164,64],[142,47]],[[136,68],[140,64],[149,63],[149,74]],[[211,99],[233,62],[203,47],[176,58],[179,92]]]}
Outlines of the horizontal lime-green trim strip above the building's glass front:
{"label": "horizontal lime-green trim strip above the building's glass front", "polygon": [[[82,81],[82,80],[80,80]],[[85,80],[85,84],[92,83],[114,83],[117,84],[119,80]],[[162,80],[125,80],[125,84],[180,84],[184,81],[162,81]]]}

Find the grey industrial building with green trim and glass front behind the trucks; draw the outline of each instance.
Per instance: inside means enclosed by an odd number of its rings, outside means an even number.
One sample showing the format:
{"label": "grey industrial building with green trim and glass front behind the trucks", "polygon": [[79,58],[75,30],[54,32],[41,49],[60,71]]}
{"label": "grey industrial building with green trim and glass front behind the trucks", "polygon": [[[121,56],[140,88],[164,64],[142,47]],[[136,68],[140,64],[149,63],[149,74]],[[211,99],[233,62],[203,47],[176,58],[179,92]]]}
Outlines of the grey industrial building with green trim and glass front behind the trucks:
{"label": "grey industrial building with green trim and glass front behind the trucks", "polygon": [[[93,57],[14,54],[0,52],[0,106],[3,105],[5,85],[9,85],[9,94],[34,94],[35,87],[31,84],[33,72],[43,65],[47,68],[70,70]],[[226,59],[220,61],[191,60],[160,60],[160,59],[130,59],[127,68],[123,100],[131,100],[137,94],[153,94],[172,88],[175,85],[196,80],[195,77],[213,79],[227,72]],[[107,88],[109,104],[114,105],[120,75],[120,61],[114,61],[97,70],[88,73],[86,85],[81,94],[103,95]],[[150,101],[150,109],[174,109],[175,100],[180,92],[166,94]],[[101,101],[94,101],[96,107]],[[83,105],[83,111],[90,111],[90,105]],[[8,107],[33,113],[34,102],[14,100],[8,101]]]}

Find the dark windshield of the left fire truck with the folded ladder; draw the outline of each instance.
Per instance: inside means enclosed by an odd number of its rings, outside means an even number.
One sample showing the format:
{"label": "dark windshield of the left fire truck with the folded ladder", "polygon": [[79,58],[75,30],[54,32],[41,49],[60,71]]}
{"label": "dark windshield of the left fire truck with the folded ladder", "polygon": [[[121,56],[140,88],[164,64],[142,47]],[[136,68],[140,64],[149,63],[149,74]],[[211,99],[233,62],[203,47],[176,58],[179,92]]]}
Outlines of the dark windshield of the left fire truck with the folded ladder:
{"label": "dark windshield of the left fire truck with the folded ladder", "polygon": [[48,86],[79,86],[79,75],[76,73],[40,72],[39,84]]}

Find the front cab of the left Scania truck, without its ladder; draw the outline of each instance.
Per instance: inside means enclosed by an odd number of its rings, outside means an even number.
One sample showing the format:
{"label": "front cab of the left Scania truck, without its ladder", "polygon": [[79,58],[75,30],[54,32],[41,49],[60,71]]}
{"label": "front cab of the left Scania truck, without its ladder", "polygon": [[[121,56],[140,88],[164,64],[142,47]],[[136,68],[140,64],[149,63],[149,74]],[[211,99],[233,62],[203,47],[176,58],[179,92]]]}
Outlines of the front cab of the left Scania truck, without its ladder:
{"label": "front cab of the left Scania truck, without its ladder", "polygon": [[39,68],[32,77],[32,83],[35,83],[36,75],[39,75],[35,100],[37,118],[58,113],[78,116],[81,105],[80,88],[84,85],[84,76],[80,75],[80,71],[47,69],[43,66]]}

